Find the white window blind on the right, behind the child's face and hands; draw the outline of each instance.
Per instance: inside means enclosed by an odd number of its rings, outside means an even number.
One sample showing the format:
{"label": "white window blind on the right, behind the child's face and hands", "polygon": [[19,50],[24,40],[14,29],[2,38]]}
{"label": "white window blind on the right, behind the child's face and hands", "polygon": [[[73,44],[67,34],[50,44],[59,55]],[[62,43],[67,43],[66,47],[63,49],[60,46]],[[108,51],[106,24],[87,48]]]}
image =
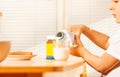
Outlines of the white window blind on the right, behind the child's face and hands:
{"label": "white window blind on the right, behind the child's face and hands", "polygon": [[67,0],[68,24],[91,24],[110,16],[109,0]]}

